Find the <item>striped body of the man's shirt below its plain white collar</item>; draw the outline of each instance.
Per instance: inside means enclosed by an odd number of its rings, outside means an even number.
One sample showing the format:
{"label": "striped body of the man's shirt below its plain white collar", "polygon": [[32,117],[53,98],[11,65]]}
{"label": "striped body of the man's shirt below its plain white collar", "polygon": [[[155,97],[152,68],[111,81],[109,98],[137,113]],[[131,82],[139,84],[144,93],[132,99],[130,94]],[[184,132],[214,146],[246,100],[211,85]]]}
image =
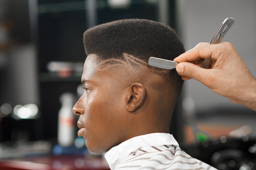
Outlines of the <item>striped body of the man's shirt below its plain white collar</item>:
{"label": "striped body of the man's shirt below its plain white collar", "polygon": [[[143,148],[141,148],[143,150]],[[145,149],[146,150],[146,149]],[[128,157],[119,163],[115,170],[216,170],[198,159],[191,157],[180,149],[179,146],[169,146],[164,150],[154,148],[148,152]]]}

